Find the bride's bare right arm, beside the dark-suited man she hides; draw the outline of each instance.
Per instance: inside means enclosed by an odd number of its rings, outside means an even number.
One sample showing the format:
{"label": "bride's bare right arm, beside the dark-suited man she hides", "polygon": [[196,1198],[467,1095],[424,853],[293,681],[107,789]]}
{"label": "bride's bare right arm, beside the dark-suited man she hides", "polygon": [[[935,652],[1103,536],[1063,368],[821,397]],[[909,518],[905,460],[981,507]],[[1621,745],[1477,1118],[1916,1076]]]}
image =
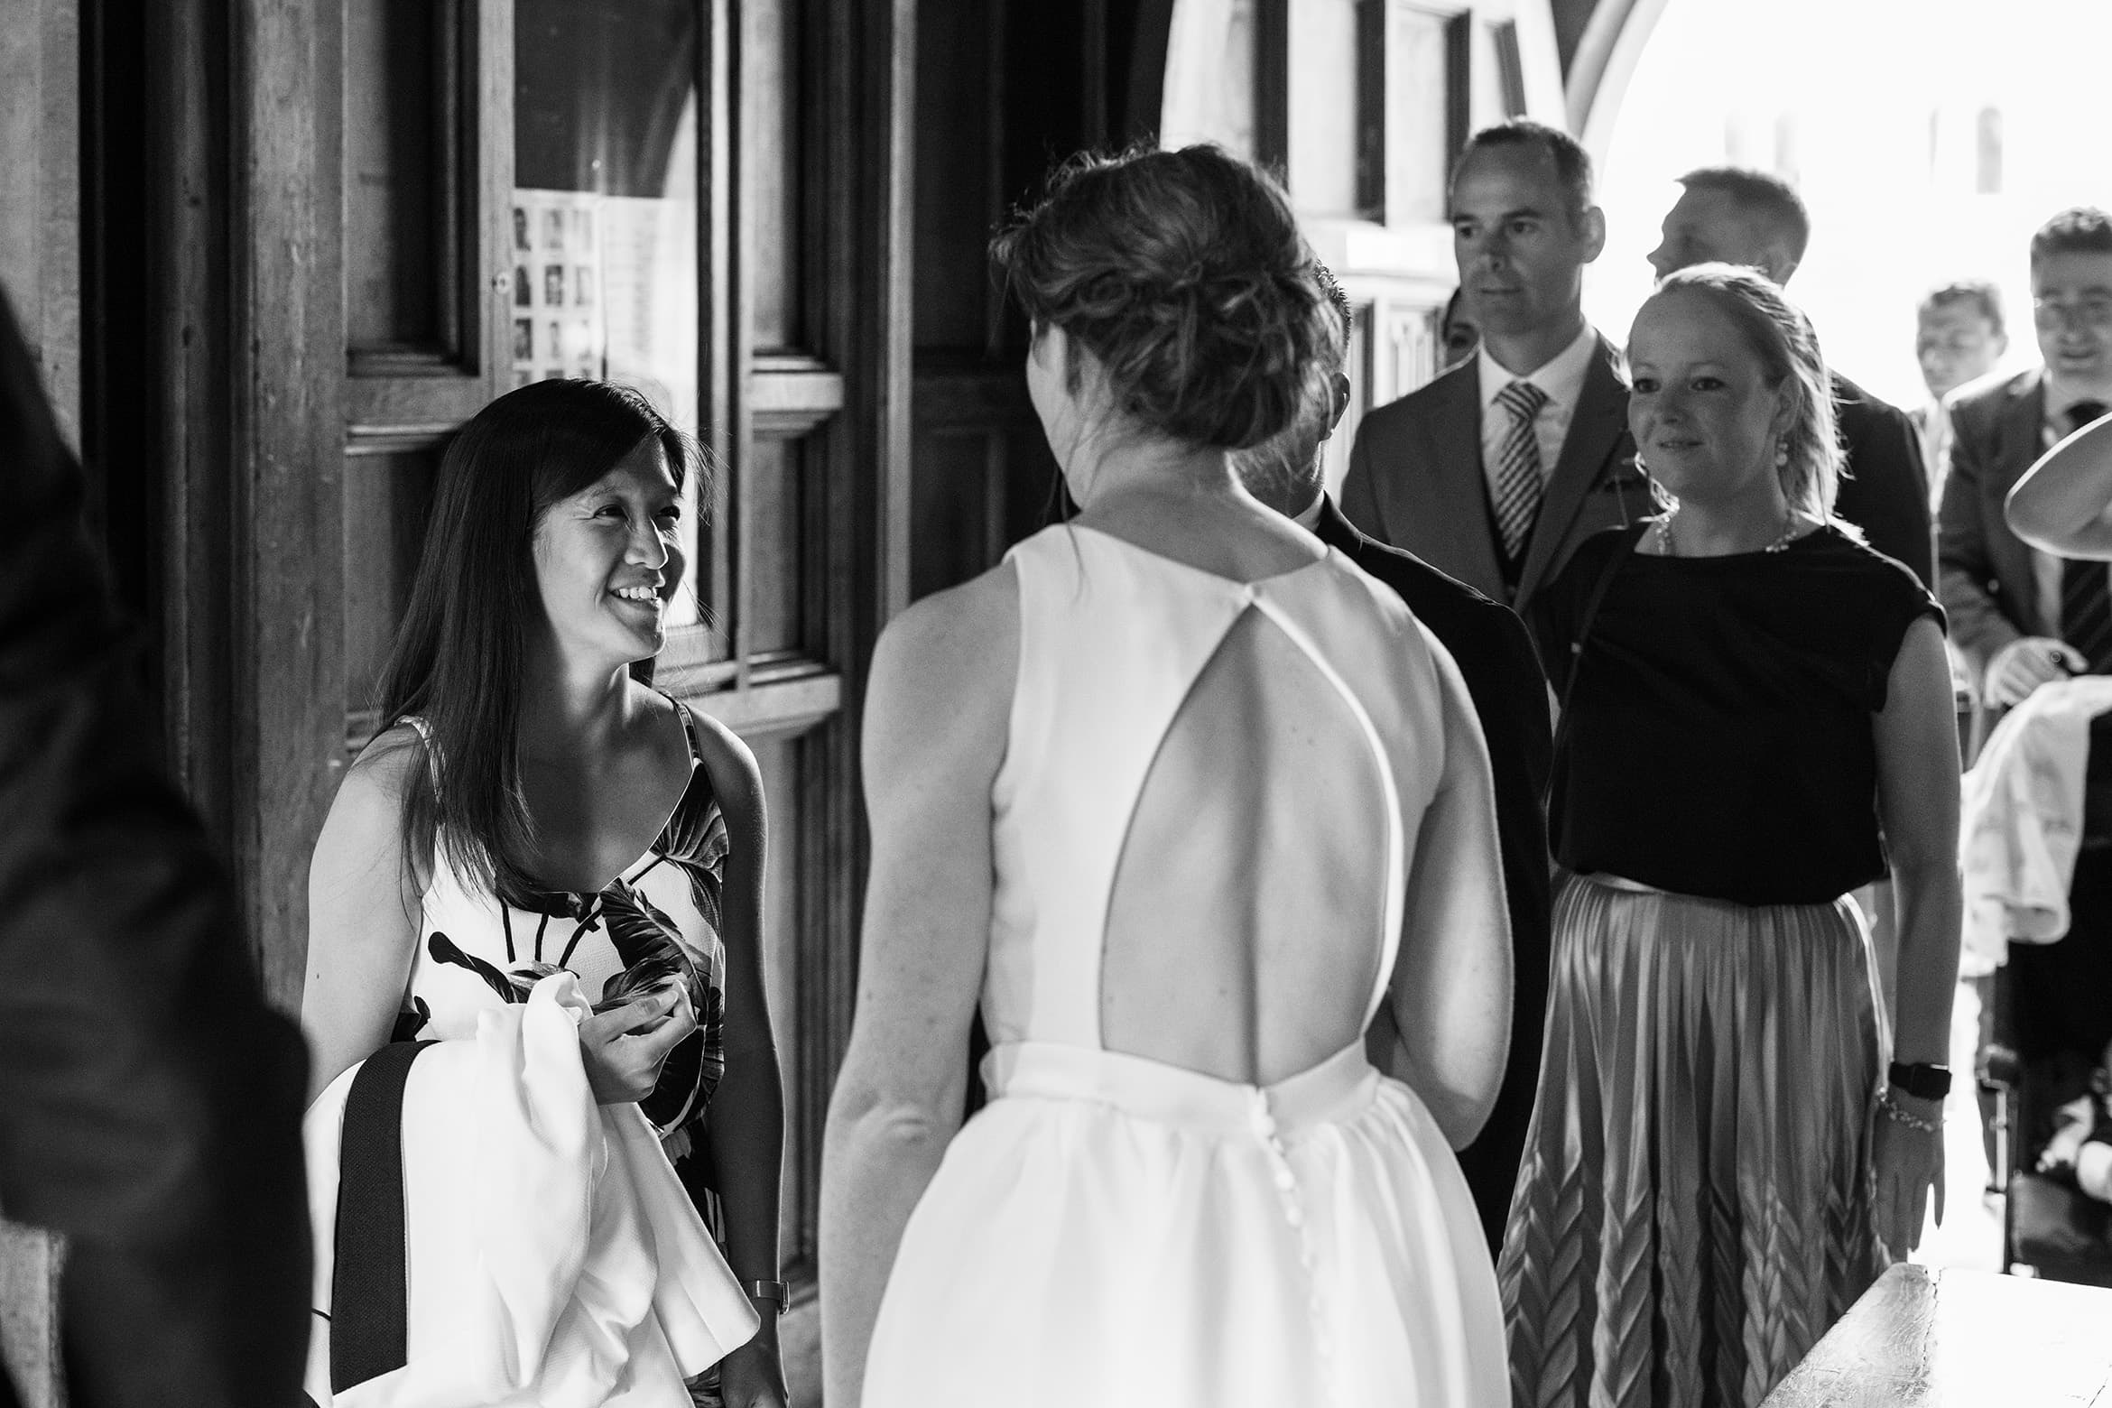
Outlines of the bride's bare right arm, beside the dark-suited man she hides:
{"label": "bride's bare right arm, beside the dark-suited man she hides", "polygon": [[1495,844],[1489,747],[1459,682],[1432,642],[1445,709],[1445,777],[1409,861],[1381,1066],[1421,1096],[1453,1148],[1481,1134],[1510,1045],[1510,912]]}

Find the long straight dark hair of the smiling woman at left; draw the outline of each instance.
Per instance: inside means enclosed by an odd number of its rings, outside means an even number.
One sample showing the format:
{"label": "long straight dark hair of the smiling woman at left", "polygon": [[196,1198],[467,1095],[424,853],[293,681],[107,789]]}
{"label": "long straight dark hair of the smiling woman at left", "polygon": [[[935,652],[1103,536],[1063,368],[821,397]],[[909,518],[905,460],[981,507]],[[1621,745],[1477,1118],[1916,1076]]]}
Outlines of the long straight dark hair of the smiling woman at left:
{"label": "long straight dark hair of the smiling woman at left", "polygon": [[642,441],[676,488],[701,471],[695,441],[629,386],[530,382],[469,418],[439,462],[410,608],[382,671],[382,730],[427,728],[427,766],[403,787],[403,859],[433,842],[456,874],[494,895],[534,889],[534,823],[520,783],[522,671],[543,610],[534,530]]}

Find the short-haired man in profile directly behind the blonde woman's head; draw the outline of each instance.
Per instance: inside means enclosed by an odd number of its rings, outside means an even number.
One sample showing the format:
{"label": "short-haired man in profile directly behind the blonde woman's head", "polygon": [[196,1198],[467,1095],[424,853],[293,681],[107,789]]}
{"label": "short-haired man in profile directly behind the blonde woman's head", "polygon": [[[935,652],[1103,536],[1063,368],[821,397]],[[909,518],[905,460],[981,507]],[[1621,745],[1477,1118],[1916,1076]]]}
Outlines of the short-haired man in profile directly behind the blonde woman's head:
{"label": "short-haired man in profile directly behind the blonde woman's head", "polygon": [[[1664,241],[1649,251],[1658,277],[1690,264],[1745,264],[1787,287],[1812,243],[1804,198],[1780,177],[1742,167],[1702,167],[1679,177],[1679,201],[1664,215]],[[1833,374],[1844,450],[1833,511],[1863,538],[1935,589],[1935,536],[1922,441],[1905,412]]]}

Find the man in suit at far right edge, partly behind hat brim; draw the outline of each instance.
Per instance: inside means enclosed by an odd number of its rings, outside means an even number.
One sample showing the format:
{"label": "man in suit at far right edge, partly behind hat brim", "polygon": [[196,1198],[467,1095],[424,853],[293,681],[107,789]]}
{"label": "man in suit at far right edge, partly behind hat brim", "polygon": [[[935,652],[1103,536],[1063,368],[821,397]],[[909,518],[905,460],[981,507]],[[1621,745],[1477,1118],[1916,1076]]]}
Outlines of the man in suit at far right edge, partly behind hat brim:
{"label": "man in suit at far right edge, partly behind hat brim", "polygon": [[[2112,673],[2108,566],[2040,553],[2002,517],[2023,471],[2112,407],[2112,215],[2078,207],[2038,228],[2032,321],[2044,365],[1966,386],[1949,403],[1939,595],[1987,709],[2072,673]],[[2112,1039],[2112,718],[2091,728],[2068,903],[2068,937],[2009,954],[2015,1045],[2028,1066],[2093,1058]],[[2042,1112],[2025,1110],[2025,1140]]]}

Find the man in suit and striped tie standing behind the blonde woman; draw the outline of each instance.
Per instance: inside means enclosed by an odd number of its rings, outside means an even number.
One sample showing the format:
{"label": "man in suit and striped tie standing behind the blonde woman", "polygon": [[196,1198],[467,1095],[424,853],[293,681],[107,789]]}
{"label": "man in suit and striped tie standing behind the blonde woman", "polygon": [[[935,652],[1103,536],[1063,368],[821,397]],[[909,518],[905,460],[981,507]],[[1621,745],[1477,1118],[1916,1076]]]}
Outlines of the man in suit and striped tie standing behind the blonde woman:
{"label": "man in suit and striped tie standing behind the blonde woman", "polygon": [[1451,226],[1481,350],[1364,416],[1341,509],[1525,612],[1578,543],[1654,511],[1620,355],[1584,321],[1605,245],[1590,156],[1540,122],[1485,127],[1453,167]]}

